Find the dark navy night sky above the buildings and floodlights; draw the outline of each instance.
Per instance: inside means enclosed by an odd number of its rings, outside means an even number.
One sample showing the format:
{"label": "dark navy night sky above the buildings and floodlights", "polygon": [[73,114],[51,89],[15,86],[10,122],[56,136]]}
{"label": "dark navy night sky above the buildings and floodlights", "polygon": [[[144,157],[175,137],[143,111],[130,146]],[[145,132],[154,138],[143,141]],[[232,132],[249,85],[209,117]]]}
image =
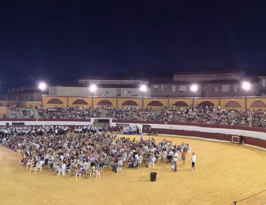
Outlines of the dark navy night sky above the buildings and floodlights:
{"label": "dark navy night sky above the buildings and floodlights", "polygon": [[1,2],[1,91],[174,70],[266,74],[266,9],[256,1],[26,2]]}

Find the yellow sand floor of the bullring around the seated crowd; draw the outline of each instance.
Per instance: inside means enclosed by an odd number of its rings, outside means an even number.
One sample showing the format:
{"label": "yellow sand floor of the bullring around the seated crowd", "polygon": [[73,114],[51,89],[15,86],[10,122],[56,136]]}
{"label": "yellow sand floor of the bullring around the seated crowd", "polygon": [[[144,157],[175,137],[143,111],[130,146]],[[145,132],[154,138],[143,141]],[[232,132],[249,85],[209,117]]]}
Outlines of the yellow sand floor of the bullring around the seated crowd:
{"label": "yellow sand floor of the bullring around the seated crowd", "polygon": [[[135,136],[138,137],[138,136]],[[147,138],[148,136],[145,136]],[[265,151],[231,143],[220,143],[185,137],[156,136],[173,144],[189,143],[196,153],[196,171],[178,161],[178,171],[171,172],[165,162],[155,168],[123,168],[122,173],[102,171],[101,179],[74,179],[68,174],[53,176],[47,166],[43,172],[29,174],[18,164],[17,152],[0,145],[0,204],[219,204],[229,205],[266,189]],[[157,172],[157,181],[149,173]],[[266,203],[266,192],[237,205]]]}

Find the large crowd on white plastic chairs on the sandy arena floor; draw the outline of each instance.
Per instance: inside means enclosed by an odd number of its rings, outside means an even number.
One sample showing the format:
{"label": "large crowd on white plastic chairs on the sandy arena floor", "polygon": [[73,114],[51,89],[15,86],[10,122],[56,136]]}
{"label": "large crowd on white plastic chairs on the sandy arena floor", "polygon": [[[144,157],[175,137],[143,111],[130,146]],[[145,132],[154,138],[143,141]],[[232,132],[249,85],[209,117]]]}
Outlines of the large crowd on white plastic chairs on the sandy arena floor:
{"label": "large crowd on white plastic chairs on the sandy arena floor", "polygon": [[[55,175],[58,171],[74,166],[85,176],[109,165],[116,173],[118,167],[131,162],[144,162],[146,166],[161,159],[171,159],[174,152],[188,149],[188,145],[173,145],[163,139],[136,140],[108,134],[102,127],[80,126],[70,132],[68,126],[12,125],[0,127],[0,143],[23,155],[19,162],[26,166],[48,164]],[[183,143],[184,144],[184,143]],[[182,148],[182,149],[181,149]]]}

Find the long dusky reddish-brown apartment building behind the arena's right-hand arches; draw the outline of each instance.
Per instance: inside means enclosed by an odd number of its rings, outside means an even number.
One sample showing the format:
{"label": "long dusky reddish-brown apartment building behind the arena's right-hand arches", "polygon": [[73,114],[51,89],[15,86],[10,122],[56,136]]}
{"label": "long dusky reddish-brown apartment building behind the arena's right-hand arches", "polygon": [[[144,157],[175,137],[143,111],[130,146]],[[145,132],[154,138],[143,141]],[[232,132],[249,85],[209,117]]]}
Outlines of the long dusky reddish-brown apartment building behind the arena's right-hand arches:
{"label": "long dusky reddish-brown apartment building behind the arena's right-hand arches", "polygon": [[[242,88],[243,82],[249,83],[248,90]],[[191,91],[192,85],[197,86],[196,91]],[[265,86],[262,81],[261,85]],[[236,70],[178,72],[173,75],[173,78],[153,78],[151,81],[151,97],[242,97],[258,95],[259,77],[245,76],[245,72]]]}

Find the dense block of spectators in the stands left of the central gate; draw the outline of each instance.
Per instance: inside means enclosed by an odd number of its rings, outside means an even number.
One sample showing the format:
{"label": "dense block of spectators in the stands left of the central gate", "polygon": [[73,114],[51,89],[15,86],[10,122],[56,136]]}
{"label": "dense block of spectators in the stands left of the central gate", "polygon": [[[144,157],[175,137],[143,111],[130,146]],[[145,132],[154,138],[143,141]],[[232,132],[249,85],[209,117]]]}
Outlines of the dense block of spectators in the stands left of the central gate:
{"label": "dense block of spectators in the stands left of the central gate", "polygon": [[99,106],[95,107],[70,107],[70,106],[36,106],[38,114],[41,117],[45,117],[45,113],[48,114],[49,118],[97,118],[101,114]]}

